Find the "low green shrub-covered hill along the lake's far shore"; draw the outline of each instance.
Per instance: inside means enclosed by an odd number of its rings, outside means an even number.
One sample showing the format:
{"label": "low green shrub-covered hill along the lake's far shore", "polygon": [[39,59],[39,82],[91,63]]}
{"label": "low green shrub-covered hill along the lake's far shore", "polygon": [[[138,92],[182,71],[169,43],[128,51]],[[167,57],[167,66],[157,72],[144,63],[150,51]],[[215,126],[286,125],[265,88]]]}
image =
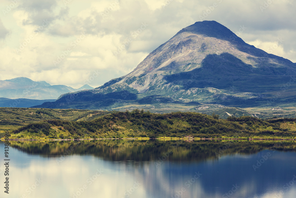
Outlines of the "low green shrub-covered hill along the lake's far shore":
{"label": "low green shrub-covered hill along the lake's far shore", "polygon": [[[36,111],[35,116],[39,116],[38,111],[40,110]],[[262,120],[250,116],[241,116],[239,118],[231,116],[225,120],[219,119],[218,115],[210,116],[190,112],[155,114],[137,109],[132,112],[110,113],[98,111],[96,115],[90,116],[86,115],[87,112],[83,114],[83,110],[68,111],[52,110],[52,113],[48,110],[47,113],[43,112],[40,116],[51,118],[49,120],[30,122],[12,130],[10,133],[11,138],[181,138],[192,136],[198,138],[296,139],[295,118]],[[78,111],[76,113],[80,115],[74,116],[74,111]],[[52,115],[49,115],[50,113]]]}

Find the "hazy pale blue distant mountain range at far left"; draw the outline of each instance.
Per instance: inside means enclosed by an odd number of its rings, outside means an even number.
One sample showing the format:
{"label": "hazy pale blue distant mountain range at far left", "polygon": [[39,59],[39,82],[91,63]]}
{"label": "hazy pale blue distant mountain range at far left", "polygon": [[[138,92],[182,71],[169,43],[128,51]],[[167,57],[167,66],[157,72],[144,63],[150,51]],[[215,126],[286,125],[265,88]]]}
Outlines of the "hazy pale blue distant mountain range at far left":
{"label": "hazy pale blue distant mountain range at far left", "polygon": [[83,85],[79,89],[74,89],[66,85],[50,85],[45,81],[36,82],[26,77],[0,80],[0,97],[9,99],[57,99],[62,94],[86,89],[94,88],[89,85]]}

